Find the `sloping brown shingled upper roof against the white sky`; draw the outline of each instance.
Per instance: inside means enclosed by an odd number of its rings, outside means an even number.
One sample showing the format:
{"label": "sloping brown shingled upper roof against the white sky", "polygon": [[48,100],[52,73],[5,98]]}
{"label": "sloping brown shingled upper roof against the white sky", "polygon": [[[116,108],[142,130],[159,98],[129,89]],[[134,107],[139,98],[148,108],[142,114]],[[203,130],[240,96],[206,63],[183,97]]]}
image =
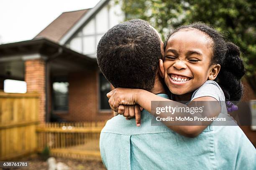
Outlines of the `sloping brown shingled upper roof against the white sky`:
{"label": "sloping brown shingled upper roof against the white sky", "polygon": [[51,24],[42,30],[34,39],[47,38],[59,42],[61,38],[79,21],[90,9],[65,12],[59,15]]}

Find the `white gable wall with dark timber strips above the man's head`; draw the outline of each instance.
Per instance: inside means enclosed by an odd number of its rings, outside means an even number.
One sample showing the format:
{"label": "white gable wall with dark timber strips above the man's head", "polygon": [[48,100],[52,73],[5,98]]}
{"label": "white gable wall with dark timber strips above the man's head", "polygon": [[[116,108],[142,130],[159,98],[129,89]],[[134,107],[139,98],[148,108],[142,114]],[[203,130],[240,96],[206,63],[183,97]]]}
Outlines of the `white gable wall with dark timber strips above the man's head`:
{"label": "white gable wall with dark timber strips above the man's head", "polygon": [[[97,6],[96,6],[97,7]],[[91,9],[92,10],[92,9]],[[65,45],[89,57],[96,57],[100,38],[114,25],[124,20],[121,7],[114,0],[99,7],[92,16],[70,37]]]}

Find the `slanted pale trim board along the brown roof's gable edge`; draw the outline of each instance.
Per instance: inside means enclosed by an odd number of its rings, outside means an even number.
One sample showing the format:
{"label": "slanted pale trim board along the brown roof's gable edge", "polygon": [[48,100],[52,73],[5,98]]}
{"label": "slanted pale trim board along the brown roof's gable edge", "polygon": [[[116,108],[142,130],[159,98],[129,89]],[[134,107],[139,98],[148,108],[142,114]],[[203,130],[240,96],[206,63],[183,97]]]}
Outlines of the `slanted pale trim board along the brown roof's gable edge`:
{"label": "slanted pale trim board along the brown roof's gable edge", "polygon": [[109,0],[101,0],[95,7],[89,10],[62,38],[59,40],[60,45],[64,45],[81,26],[99,10],[105,2]]}

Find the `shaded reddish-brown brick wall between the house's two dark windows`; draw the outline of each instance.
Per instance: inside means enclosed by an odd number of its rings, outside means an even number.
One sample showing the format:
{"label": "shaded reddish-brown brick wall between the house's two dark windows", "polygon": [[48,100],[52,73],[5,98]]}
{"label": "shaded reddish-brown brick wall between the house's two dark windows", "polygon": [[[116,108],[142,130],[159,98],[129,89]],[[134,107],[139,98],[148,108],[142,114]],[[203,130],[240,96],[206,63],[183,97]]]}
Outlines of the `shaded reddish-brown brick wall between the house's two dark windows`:
{"label": "shaded reddish-brown brick wall between the house's two dark windows", "polygon": [[110,112],[98,110],[97,70],[76,72],[69,75],[69,112],[55,113],[67,121],[108,120]]}

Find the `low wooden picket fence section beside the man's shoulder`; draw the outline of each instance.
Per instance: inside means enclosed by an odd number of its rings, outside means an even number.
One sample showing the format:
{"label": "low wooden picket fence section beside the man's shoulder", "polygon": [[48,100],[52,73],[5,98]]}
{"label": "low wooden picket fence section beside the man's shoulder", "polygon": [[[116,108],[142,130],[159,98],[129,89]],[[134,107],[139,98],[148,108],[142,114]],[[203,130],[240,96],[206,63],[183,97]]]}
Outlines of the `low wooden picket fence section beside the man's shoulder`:
{"label": "low wooden picket fence section beside the man's shoulder", "polygon": [[48,146],[53,156],[100,159],[99,138],[104,125],[105,121],[39,125],[38,151]]}

